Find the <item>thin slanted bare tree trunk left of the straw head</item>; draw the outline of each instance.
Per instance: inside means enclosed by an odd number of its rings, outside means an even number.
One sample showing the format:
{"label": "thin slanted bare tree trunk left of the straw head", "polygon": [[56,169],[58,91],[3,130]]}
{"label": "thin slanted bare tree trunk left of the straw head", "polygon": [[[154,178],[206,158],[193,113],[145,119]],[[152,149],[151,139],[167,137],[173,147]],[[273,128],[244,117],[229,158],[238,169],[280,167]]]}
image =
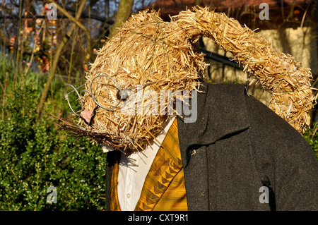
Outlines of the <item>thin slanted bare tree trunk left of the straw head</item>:
{"label": "thin slanted bare tree trunk left of the straw head", "polygon": [[[87,0],[82,0],[80,3],[80,6],[78,7],[78,11],[76,13],[75,19],[78,20],[79,18],[81,18],[81,13],[83,12],[83,8],[86,4]],[[42,107],[45,104],[45,100],[47,99],[47,93],[49,92],[49,87],[51,86],[52,80],[54,78],[54,73],[57,69],[57,63],[59,62],[59,56],[61,54],[61,51],[64,49],[65,44],[68,42],[69,37],[71,37],[71,34],[73,32],[73,30],[75,29],[76,24],[73,23],[71,25],[71,28],[69,28],[69,30],[66,33],[66,37],[64,37],[64,39],[62,40],[62,42],[59,44],[59,47],[57,47],[57,51],[54,54],[54,59],[53,59],[53,63],[51,65],[51,69],[50,69],[50,73],[49,73],[49,77],[47,78],[47,83],[42,91],[41,97],[40,97],[40,102],[37,105],[37,118],[40,117],[41,111],[42,111]]]}

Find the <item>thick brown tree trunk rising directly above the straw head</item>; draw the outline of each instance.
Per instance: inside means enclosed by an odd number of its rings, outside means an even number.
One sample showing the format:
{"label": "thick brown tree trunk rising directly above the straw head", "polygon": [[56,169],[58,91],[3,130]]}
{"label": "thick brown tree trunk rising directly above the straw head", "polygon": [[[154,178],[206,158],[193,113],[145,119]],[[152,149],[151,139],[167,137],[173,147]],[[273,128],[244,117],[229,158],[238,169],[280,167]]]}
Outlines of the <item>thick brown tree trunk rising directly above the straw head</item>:
{"label": "thick brown tree trunk rising directly above the straw head", "polygon": [[118,12],[112,30],[110,31],[110,38],[117,34],[117,28],[119,28],[123,22],[128,20],[131,15],[131,9],[134,5],[134,0],[121,0],[119,3]]}

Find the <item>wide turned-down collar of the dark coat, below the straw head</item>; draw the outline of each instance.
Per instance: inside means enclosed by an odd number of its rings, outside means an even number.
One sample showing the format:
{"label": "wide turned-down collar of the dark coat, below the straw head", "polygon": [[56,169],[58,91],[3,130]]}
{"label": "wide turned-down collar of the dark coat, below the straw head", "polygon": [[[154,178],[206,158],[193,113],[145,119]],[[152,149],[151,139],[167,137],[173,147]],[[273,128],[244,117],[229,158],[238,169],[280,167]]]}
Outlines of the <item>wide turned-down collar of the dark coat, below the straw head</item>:
{"label": "wide turned-down collar of the dark coat, below the straw head", "polygon": [[197,118],[184,123],[178,116],[179,145],[184,167],[194,148],[249,128],[244,85],[204,83],[197,93]]}

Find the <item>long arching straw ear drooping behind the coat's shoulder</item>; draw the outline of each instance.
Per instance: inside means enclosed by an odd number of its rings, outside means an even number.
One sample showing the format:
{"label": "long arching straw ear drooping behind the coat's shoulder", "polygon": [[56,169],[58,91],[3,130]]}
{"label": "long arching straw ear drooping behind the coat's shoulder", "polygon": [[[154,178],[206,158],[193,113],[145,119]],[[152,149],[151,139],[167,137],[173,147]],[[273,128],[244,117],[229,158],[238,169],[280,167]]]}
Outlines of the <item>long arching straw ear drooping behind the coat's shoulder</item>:
{"label": "long arching straw ear drooping behind the coat's shoulder", "polygon": [[302,68],[293,56],[276,51],[264,37],[224,13],[198,7],[182,11],[172,20],[189,39],[209,37],[230,51],[244,71],[271,93],[269,107],[298,132],[303,133],[310,126],[309,111],[316,104],[316,97],[312,94],[309,68]]}

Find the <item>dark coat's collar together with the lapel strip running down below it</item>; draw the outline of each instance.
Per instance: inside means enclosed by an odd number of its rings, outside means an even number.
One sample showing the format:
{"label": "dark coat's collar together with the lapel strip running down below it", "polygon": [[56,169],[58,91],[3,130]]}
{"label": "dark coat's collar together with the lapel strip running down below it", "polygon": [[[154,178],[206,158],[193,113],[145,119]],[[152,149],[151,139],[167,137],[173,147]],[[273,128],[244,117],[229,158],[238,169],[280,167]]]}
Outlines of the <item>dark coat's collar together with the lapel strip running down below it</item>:
{"label": "dark coat's collar together with the lapel strip running down below it", "polygon": [[209,159],[204,146],[249,128],[244,85],[206,83],[200,91],[196,121],[184,123],[184,115],[178,117],[189,210],[209,210],[211,205],[208,202]]}

